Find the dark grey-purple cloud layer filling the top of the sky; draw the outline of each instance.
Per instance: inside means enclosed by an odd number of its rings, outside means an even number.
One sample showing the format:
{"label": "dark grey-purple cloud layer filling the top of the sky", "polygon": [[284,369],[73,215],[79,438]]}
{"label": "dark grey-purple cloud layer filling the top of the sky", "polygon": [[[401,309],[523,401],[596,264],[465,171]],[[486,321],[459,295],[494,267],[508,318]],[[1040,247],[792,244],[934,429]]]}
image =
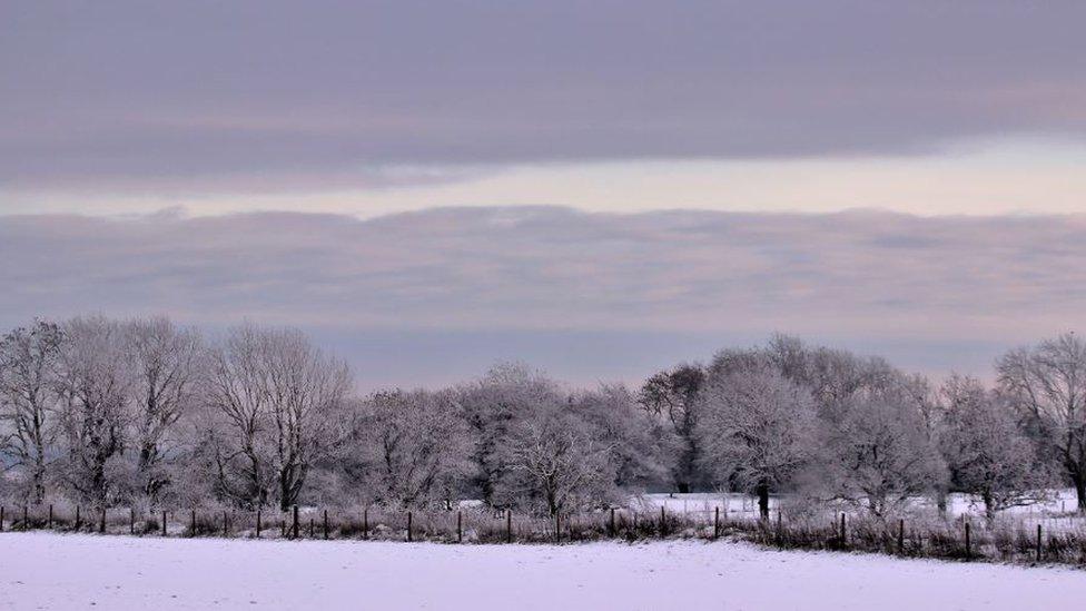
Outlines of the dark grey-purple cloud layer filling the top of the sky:
{"label": "dark grey-purple cloud layer filling the top of the sky", "polygon": [[34,0],[3,12],[8,189],[290,191],[455,179],[457,166],[1086,135],[1082,2]]}

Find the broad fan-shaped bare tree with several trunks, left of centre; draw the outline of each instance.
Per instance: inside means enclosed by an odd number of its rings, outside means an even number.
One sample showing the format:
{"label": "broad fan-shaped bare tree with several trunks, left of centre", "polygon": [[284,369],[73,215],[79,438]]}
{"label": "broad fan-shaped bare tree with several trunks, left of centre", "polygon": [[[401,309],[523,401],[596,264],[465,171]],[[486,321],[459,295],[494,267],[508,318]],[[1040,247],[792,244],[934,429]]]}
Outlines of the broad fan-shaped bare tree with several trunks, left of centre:
{"label": "broad fan-shaped bare tree with several trunks, left of centre", "polygon": [[270,496],[286,511],[309,469],[346,436],[351,373],[296,329],[243,326],[213,353],[208,404],[219,490],[244,503]]}

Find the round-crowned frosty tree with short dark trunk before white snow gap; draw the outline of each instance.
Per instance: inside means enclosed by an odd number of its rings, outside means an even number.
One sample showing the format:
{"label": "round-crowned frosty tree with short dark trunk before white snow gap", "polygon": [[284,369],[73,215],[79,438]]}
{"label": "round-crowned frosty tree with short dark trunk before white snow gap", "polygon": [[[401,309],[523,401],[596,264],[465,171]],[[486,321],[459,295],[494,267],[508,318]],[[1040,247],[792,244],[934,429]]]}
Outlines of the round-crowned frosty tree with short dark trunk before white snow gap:
{"label": "round-crowned frosty tree with short dark trunk before white snow gap", "polygon": [[807,388],[771,368],[713,376],[701,395],[697,434],[702,461],[721,483],[758,496],[792,483],[812,454],[814,402]]}

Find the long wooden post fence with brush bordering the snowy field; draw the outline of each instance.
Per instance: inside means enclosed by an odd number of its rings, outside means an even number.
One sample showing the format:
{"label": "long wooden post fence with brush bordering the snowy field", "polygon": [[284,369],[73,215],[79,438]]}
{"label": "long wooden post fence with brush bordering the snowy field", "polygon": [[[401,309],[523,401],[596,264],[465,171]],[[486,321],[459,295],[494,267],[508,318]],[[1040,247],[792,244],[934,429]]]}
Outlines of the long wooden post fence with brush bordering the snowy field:
{"label": "long wooden post fence with brush bordering the snowy field", "polygon": [[51,530],[142,536],[245,539],[349,539],[442,543],[563,543],[646,539],[734,538],[777,549],[887,553],[909,558],[1028,563],[1086,563],[1086,526],[1047,529],[1040,521],[987,524],[968,520],[876,520],[856,515],[789,516],[769,520],[713,511],[669,512],[614,507],[553,518],[510,511],[392,511],[293,507],[288,512],[134,509],[16,512],[0,507],[0,532]]}

